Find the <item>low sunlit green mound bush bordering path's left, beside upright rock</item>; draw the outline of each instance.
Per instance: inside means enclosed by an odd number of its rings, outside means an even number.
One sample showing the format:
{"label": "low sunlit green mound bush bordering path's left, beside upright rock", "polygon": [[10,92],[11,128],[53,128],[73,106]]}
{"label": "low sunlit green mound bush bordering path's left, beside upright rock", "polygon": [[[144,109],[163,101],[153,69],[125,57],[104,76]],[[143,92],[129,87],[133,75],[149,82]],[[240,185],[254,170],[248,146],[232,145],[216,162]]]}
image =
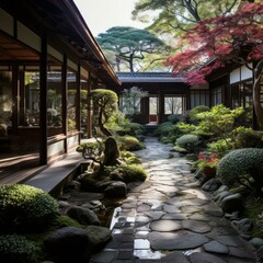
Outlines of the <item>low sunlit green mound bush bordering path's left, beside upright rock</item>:
{"label": "low sunlit green mound bush bordering path's left, beside upright rock", "polygon": [[146,170],[138,164],[122,164],[119,168],[123,171],[123,179],[125,183],[145,181],[147,178]]}

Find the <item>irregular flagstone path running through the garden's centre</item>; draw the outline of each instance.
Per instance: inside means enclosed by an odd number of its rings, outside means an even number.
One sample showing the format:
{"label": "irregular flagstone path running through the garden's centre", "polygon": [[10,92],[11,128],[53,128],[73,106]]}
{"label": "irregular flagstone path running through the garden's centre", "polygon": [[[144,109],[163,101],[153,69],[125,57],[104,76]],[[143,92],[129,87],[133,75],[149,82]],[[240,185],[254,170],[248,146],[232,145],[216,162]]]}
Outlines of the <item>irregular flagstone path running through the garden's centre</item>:
{"label": "irregular flagstone path running through the garden's centre", "polygon": [[184,158],[146,139],[138,157],[149,179],[134,187],[112,220],[112,241],[91,263],[254,263],[252,248],[209,194],[197,186]]}

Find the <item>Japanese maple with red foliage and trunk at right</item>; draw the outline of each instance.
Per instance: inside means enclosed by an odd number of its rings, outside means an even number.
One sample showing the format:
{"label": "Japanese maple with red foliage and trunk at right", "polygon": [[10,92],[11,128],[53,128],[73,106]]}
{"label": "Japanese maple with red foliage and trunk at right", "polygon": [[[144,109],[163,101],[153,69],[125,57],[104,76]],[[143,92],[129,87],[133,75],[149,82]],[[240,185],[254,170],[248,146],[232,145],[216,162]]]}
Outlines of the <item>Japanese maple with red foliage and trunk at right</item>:
{"label": "Japanese maple with red foliage and trunk at right", "polygon": [[[253,105],[263,127],[260,81],[263,71],[263,2],[243,4],[235,14],[199,21],[182,38],[184,50],[167,64],[197,87],[227,64],[245,65],[253,71]],[[185,48],[185,45],[188,48]]]}

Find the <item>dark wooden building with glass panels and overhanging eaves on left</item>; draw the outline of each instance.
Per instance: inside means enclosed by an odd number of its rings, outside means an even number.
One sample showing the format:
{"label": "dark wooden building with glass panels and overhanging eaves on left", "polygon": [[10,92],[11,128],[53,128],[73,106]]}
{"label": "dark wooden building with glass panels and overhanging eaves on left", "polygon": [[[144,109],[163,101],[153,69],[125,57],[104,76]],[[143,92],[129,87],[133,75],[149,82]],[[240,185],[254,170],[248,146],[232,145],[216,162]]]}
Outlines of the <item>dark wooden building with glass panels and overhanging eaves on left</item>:
{"label": "dark wooden building with glass panels and overhanging eaves on left", "polygon": [[75,149],[88,92],[119,83],[72,0],[0,1],[0,160]]}

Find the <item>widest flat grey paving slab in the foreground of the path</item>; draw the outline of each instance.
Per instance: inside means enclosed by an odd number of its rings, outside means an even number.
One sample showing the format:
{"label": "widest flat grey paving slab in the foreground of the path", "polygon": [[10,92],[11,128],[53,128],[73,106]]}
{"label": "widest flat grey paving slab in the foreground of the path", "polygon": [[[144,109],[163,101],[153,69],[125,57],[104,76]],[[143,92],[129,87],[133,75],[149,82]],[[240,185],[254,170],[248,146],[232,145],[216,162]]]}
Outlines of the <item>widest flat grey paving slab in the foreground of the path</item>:
{"label": "widest flat grey paving slab in the foreground of the path", "polygon": [[[184,232],[185,233],[185,232]],[[199,233],[179,236],[172,232],[150,232],[148,236],[153,250],[188,250],[208,242],[208,238]]]}

